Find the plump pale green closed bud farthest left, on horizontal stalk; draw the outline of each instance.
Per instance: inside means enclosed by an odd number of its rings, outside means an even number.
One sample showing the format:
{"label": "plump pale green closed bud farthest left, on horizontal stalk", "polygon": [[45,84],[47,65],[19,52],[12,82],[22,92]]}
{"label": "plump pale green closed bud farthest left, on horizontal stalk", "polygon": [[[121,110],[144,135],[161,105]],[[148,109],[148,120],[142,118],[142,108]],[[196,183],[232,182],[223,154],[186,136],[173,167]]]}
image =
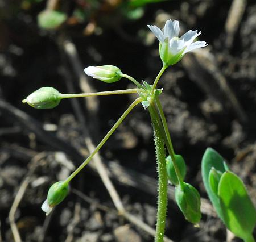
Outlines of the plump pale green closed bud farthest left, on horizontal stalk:
{"label": "plump pale green closed bud farthest left, on horizontal stalk", "polygon": [[35,109],[53,109],[59,105],[62,96],[58,90],[53,87],[42,87],[34,93],[31,93],[23,103],[28,103]]}

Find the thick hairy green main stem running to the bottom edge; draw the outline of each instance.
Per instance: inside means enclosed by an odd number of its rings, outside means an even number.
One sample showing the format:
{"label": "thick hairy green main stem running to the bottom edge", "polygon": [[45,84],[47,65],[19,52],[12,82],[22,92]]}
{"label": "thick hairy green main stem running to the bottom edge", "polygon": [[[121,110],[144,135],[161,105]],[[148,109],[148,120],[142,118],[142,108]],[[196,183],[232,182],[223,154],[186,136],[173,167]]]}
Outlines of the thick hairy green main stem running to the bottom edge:
{"label": "thick hairy green main stem running to the bottom edge", "polygon": [[150,112],[152,126],[155,136],[156,159],[158,162],[158,214],[156,219],[156,236],[155,242],[162,242],[164,238],[164,228],[166,227],[166,207],[167,207],[167,173],[166,173],[166,156],[164,151],[164,141],[160,132],[156,115],[151,106],[148,107]]}

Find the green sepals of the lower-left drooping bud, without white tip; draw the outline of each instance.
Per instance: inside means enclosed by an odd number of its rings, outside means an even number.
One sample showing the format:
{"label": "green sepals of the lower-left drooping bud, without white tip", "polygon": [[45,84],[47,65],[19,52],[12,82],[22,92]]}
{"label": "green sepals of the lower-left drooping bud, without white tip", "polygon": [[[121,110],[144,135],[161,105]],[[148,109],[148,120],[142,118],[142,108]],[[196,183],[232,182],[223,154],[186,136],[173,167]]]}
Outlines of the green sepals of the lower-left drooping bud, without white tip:
{"label": "green sepals of the lower-left drooping bud, without white tip", "polygon": [[61,203],[68,195],[68,184],[59,181],[54,183],[48,191],[47,201],[50,207],[54,207]]}

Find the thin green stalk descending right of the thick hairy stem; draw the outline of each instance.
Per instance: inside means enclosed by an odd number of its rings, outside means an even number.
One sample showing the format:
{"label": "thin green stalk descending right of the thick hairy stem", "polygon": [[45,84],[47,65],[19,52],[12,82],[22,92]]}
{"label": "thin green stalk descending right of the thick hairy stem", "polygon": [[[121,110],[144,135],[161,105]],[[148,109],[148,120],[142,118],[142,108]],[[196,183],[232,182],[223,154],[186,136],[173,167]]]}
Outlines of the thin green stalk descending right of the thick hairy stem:
{"label": "thin green stalk descending right of the thick hairy stem", "polygon": [[[170,132],[168,130],[166,117],[164,116],[163,108],[162,108],[162,105],[161,105],[160,100],[159,100],[158,97],[155,97],[155,102],[156,102],[156,106],[158,107],[160,118],[161,118],[162,124],[163,124],[163,130],[164,130],[163,137],[164,137],[164,140],[165,140],[165,143],[166,143],[166,147],[167,147],[168,152],[169,152],[169,154],[172,158],[172,162],[174,164],[174,169],[175,169],[175,172],[176,172],[179,184],[180,184],[180,188],[181,188],[181,190],[183,190],[184,189],[184,181],[183,181],[183,177],[180,174],[180,170],[177,166],[177,162],[175,160],[174,147],[172,146],[172,140],[171,140]],[[152,105],[152,107],[155,108],[154,105]],[[155,110],[155,112],[157,112],[157,111]]]}

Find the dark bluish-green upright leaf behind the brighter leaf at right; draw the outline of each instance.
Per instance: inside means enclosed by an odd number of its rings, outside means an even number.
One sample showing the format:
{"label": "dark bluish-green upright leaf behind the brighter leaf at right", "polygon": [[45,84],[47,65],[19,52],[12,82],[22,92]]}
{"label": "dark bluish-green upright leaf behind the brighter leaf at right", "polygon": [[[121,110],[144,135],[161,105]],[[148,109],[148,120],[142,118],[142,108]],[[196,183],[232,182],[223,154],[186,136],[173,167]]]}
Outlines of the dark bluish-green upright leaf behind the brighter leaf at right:
{"label": "dark bluish-green upright leaf behind the brighter leaf at right", "polygon": [[207,190],[207,194],[210,198],[210,201],[212,202],[214,208],[216,209],[218,216],[222,220],[224,220],[218,195],[215,194],[212,189],[210,189],[210,185],[209,185],[209,174],[212,167],[218,170],[219,172],[223,172],[223,173],[225,172],[224,158],[214,149],[207,148],[206,151],[204,152],[204,156],[202,159],[203,182],[204,182],[205,189]]}

